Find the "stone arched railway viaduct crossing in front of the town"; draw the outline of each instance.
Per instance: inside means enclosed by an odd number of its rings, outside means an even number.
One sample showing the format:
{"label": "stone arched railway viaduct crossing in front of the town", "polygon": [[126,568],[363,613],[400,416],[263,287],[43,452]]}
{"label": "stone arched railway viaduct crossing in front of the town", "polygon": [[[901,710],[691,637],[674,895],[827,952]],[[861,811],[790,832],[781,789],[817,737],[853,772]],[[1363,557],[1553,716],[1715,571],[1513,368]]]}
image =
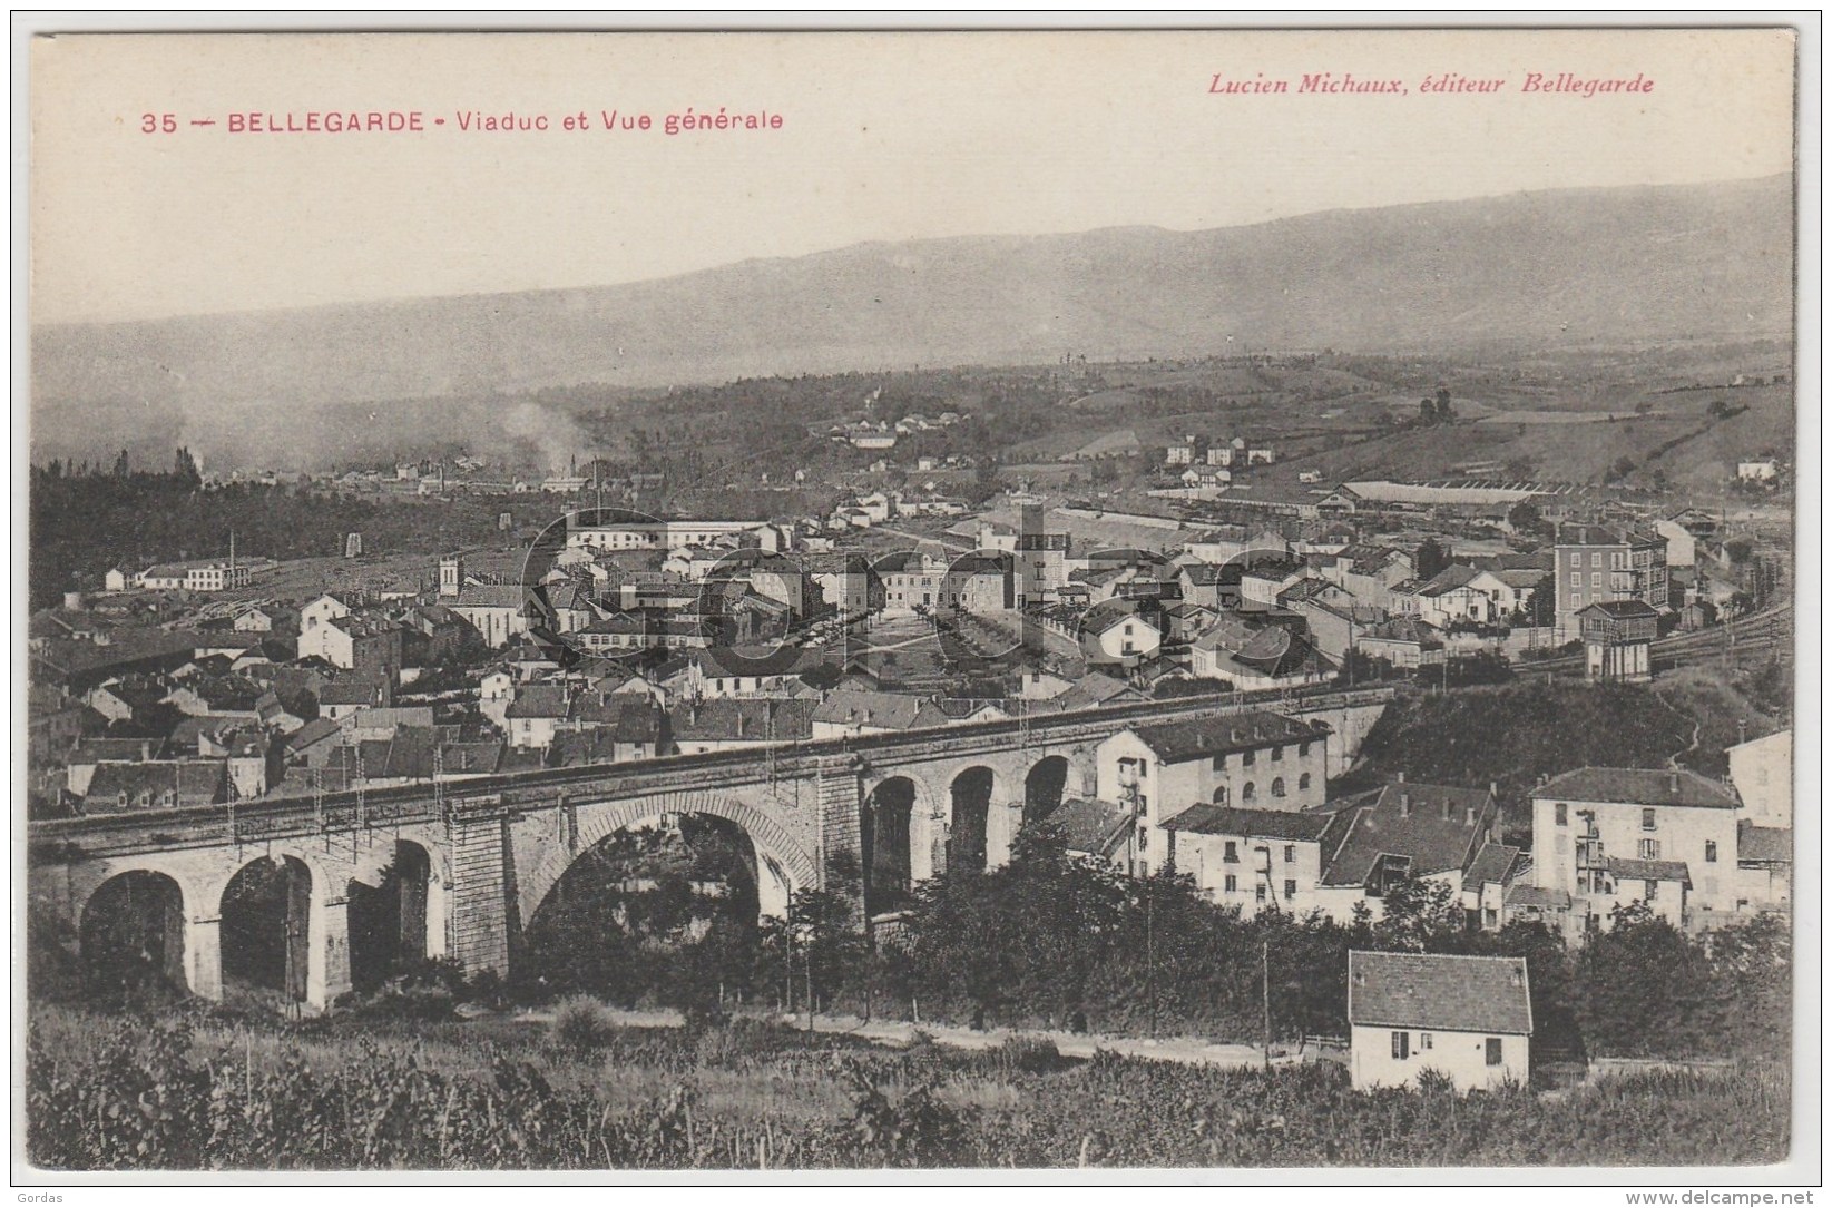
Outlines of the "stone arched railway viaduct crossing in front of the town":
{"label": "stone arched railway viaduct crossing in front of the town", "polygon": [[[269,985],[322,1010],[352,985],[352,950],[456,957],[507,976],[522,930],[568,868],[617,831],[703,814],[751,844],[758,908],[802,888],[909,890],[1002,864],[1026,820],[1092,796],[1096,747],[1129,725],[1246,708],[1325,721],[1343,771],[1389,690],[1226,694],[1030,719],[672,756],[577,769],[33,822],[29,911],[82,957],[136,948],[174,983],[222,998],[225,968],[280,955]],[[852,869],[848,873],[848,869]],[[236,917],[262,879],[269,902]],[[245,913],[245,911],[244,911]],[[278,943],[277,937],[284,939]]]}

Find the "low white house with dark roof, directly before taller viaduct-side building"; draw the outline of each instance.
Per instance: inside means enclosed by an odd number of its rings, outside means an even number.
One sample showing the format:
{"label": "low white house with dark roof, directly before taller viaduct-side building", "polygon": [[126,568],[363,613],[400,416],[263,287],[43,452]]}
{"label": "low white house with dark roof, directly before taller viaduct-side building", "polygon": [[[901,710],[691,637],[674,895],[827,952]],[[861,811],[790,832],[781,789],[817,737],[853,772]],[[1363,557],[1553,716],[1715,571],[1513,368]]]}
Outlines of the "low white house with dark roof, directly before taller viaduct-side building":
{"label": "low white house with dark roof, directly before taller viaduct-side building", "polygon": [[1220,906],[1242,913],[1317,910],[1325,860],[1348,825],[1328,809],[1191,805],[1165,820],[1165,860]]}

